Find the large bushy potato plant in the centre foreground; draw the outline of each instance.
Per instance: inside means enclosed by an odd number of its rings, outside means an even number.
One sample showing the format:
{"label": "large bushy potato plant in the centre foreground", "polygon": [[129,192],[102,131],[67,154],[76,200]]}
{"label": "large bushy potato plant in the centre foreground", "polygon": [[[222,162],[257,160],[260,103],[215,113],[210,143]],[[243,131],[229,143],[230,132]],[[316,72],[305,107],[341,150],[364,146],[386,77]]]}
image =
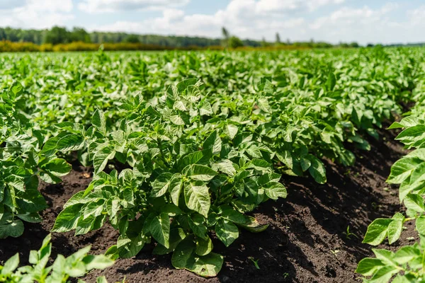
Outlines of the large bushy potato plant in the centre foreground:
{"label": "large bushy potato plant in the centre foreground", "polygon": [[[261,202],[286,197],[273,171],[273,151],[239,129],[236,122],[211,118],[213,110],[198,80],[181,81],[155,103],[141,96],[125,100],[127,117],[109,131],[96,111],[93,127],[61,124],[64,130],[42,152],[88,149],[95,177],[57,216],[52,231],[84,234],[109,221],[120,231],[111,258],[137,255],[154,239],[154,253],[173,253],[176,268],[205,277],[220,271],[212,252],[214,231],[225,246],[239,228],[266,229],[251,216]],[[58,146],[61,141],[68,146]],[[106,173],[113,158],[128,168]]]}

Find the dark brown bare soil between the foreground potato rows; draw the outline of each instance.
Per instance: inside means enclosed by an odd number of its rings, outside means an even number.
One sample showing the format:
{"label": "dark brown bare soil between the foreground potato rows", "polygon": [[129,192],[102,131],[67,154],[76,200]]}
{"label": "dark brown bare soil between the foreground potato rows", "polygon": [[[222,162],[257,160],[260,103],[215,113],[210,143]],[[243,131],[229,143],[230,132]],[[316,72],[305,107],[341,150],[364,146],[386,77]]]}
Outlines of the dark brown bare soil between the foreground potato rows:
{"label": "dark brown bare soil between the foreground potato rows", "polygon": [[[152,255],[147,246],[137,257],[118,260],[113,267],[95,271],[86,277],[95,282],[106,275],[110,282],[360,282],[354,273],[357,262],[371,255],[370,246],[361,239],[373,219],[392,216],[401,209],[397,188],[385,183],[390,166],[400,156],[402,147],[393,141],[394,134],[381,131],[381,141],[370,139],[371,151],[356,151],[356,166],[344,168],[327,163],[328,183],[318,185],[310,178],[285,177],[288,198],[269,201],[256,210],[261,224],[270,224],[263,233],[242,231],[240,237],[225,248],[215,241],[215,250],[225,256],[218,277],[204,279],[185,270],[175,270],[170,256]],[[29,250],[38,249],[49,233],[62,205],[89,184],[89,168],[74,166],[74,171],[59,185],[42,185],[49,209],[42,212],[41,224],[27,224],[20,238],[0,242],[0,261],[15,253],[26,264]],[[346,236],[347,227],[353,233]],[[412,225],[402,233],[397,246],[415,236]],[[55,233],[53,254],[69,255],[92,245],[93,253],[103,253],[115,244],[118,233],[111,226],[85,236]],[[385,248],[385,245],[382,245]],[[258,260],[260,269],[251,261]]]}

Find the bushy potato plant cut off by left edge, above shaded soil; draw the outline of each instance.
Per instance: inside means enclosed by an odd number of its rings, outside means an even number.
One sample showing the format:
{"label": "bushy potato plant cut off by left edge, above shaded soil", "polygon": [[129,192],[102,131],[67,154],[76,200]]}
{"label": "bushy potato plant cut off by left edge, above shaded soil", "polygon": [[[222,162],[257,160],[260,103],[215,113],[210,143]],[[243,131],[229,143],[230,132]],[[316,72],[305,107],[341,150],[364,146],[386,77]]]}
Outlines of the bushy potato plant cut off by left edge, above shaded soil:
{"label": "bushy potato plant cut off by left edge, above shaded soil", "polygon": [[0,96],[0,238],[21,236],[23,221],[40,222],[38,212],[47,204],[39,178],[58,183],[72,168],[63,158],[40,152],[44,132],[23,111],[23,93],[14,82]]}

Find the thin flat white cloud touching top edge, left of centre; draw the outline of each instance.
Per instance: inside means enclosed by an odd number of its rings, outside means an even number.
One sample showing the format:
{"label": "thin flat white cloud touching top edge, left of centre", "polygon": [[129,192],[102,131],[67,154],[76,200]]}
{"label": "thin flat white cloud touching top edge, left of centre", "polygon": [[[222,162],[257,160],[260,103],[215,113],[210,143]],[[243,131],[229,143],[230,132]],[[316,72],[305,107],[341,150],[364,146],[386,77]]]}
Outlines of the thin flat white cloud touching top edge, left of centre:
{"label": "thin flat white cloud touching top edge, left of centre", "polygon": [[111,13],[116,11],[134,11],[184,6],[190,0],[82,0],[78,5],[86,13]]}

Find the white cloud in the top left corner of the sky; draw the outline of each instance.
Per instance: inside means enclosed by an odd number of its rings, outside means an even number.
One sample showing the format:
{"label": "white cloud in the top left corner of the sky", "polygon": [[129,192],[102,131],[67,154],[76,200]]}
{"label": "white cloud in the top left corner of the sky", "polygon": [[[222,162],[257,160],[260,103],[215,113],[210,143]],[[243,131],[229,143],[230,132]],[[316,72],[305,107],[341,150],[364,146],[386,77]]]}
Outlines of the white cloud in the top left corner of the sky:
{"label": "white cloud in the top left corner of the sky", "polygon": [[1,1],[0,26],[50,28],[74,18],[72,0]]}

